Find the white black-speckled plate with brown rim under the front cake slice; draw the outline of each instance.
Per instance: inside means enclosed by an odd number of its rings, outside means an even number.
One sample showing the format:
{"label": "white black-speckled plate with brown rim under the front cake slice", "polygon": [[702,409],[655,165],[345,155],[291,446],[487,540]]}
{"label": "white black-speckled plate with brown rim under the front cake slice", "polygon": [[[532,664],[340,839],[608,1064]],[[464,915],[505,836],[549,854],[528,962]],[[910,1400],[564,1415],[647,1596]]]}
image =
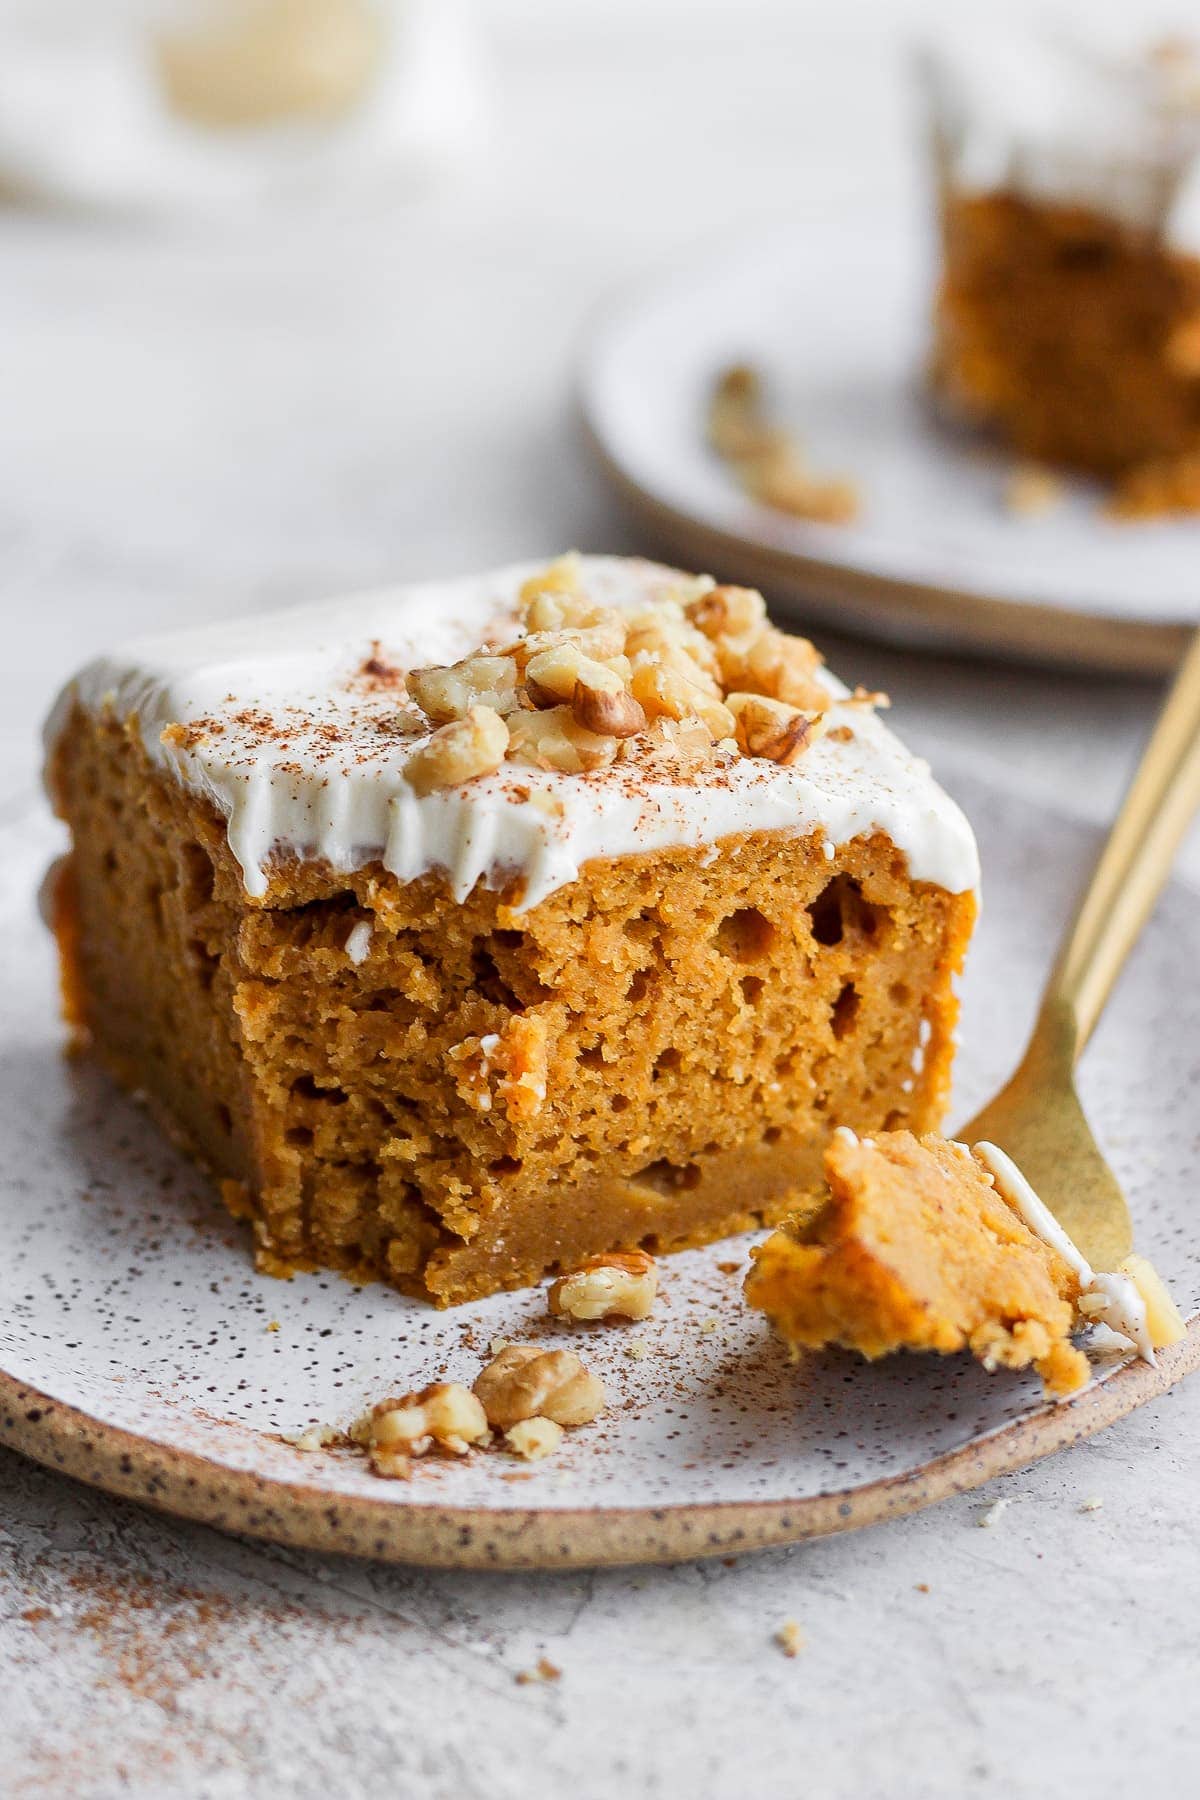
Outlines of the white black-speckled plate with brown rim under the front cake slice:
{"label": "white black-speckled plate with brown rim under the front cake slice", "polygon": [[[945,770],[984,851],[957,1111],[1011,1064],[1094,832]],[[673,1256],[653,1319],[551,1325],[540,1294],[452,1312],[336,1276],[254,1273],[205,1183],[86,1064],[67,1064],[31,812],[0,830],[0,1438],[115,1492],[297,1544],[461,1566],[682,1559],[865,1525],[1096,1431],[1200,1361],[1200,1319],[1157,1368],[1094,1345],[1096,1381],[1045,1406],[970,1359],[788,1363],[741,1303],[748,1240]],[[1175,886],[1085,1064],[1141,1246],[1200,1303],[1200,896]],[[732,1267],[730,1267],[732,1265]],[[275,1328],[277,1327],[277,1328]],[[380,1481],[286,1433],[473,1377],[495,1336],[579,1348],[608,1415],[534,1467],[489,1453]],[[640,1339],[646,1355],[631,1357]],[[1115,1345],[1115,1339],[1110,1339]]]}

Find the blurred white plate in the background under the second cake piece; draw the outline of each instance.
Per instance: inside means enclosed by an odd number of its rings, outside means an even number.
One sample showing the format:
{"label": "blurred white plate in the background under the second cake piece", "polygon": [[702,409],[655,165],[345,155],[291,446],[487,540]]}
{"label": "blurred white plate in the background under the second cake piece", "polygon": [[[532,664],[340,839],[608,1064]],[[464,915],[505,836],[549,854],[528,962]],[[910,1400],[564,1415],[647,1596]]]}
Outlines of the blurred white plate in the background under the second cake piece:
{"label": "blurred white plate in the background under the second cake piece", "polygon": [[[1114,524],[1087,482],[1013,517],[1011,457],[939,428],[919,389],[930,279],[910,220],[865,218],[730,247],[615,308],[585,346],[579,400],[642,536],[842,630],[1168,670],[1200,623],[1200,520]],[[763,369],[817,466],[860,482],[853,526],[757,506],[707,450],[709,385],[730,362]]]}

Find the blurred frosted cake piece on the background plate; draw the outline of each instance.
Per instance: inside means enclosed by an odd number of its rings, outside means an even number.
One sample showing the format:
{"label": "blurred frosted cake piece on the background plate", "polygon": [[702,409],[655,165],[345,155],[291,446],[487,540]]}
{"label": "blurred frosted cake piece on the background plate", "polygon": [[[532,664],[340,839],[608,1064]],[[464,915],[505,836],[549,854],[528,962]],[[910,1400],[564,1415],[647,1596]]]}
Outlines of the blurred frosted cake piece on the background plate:
{"label": "blurred frosted cake piece on the background plate", "polygon": [[1124,517],[1200,509],[1200,59],[950,34],[925,63],[943,412],[1105,481]]}

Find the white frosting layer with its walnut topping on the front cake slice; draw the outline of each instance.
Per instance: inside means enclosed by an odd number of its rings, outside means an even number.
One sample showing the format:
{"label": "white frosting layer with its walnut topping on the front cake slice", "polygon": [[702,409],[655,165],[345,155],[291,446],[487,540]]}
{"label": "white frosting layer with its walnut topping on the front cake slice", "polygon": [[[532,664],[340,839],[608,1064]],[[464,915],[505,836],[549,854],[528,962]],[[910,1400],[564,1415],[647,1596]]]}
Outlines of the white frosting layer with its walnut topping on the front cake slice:
{"label": "white frosting layer with its walnut topping on the front cake slice", "polygon": [[[588,641],[603,626],[570,619],[534,630],[540,578],[549,616],[569,589],[581,619],[583,601],[621,616],[624,646],[592,657],[608,648]],[[766,830],[822,832],[829,853],[883,833],[914,880],[977,887],[966,819],[873,697],[851,695],[813,653],[806,695],[772,698],[765,650],[801,641],[763,623],[714,634],[702,653],[705,594],[761,608],[657,563],[583,556],[146,637],[68,682],[47,745],[76,707],[133,722],[149,756],[227,819],[255,898],[272,857],[293,853],[340,871],[378,860],[401,882],[444,871],[459,900],[480,880],[515,886],[529,907],[596,857]],[[576,655],[585,679],[572,688]],[[694,713],[675,698],[691,655],[703,675]],[[455,664],[475,682],[462,716],[428,698],[455,688]],[[504,695],[486,691],[497,670]],[[491,767],[450,779],[450,751],[471,734]]]}

